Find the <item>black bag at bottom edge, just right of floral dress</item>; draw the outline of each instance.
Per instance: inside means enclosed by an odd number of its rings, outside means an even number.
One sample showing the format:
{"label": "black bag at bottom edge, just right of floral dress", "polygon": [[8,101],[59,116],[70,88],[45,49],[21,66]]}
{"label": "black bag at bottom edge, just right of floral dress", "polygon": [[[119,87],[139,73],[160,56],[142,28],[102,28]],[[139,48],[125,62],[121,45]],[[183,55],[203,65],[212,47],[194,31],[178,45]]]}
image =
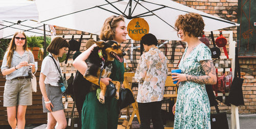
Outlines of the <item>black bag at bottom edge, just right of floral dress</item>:
{"label": "black bag at bottom edge, just right of floral dress", "polygon": [[229,129],[227,114],[220,113],[218,105],[215,105],[216,114],[210,114],[210,126],[212,129]]}

